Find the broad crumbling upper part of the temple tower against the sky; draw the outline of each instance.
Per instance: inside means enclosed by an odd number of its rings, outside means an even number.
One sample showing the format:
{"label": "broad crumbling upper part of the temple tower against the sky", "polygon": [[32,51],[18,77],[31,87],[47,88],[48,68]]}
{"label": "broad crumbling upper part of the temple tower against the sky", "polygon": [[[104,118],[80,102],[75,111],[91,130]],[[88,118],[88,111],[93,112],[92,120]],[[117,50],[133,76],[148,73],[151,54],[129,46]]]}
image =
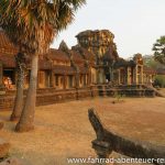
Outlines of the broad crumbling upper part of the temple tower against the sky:
{"label": "broad crumbling upper part of the temple tower against the sky", "polygon": [[116,52],[110,56],[118,56],[116,44],[113,43],[114,35],[109,30],[84,31],[76,35],[78,44],[81,47],[92,52],[97,61],[100,62],[107,52]]}

